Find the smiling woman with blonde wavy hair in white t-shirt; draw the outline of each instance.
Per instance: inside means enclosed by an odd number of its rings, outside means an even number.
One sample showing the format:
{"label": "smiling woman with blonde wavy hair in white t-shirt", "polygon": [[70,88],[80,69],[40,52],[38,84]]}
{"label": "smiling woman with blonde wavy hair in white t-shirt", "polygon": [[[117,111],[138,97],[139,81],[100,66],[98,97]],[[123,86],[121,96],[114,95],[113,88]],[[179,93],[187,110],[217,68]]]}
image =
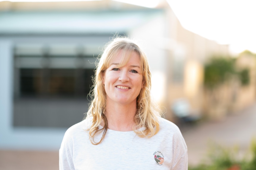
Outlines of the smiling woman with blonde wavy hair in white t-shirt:
{"label": "smiling woman with blonde wavy hair in white t-shirt", "polygon": [[151,101],[151,74],[141,48],[114,38],[96,68],[87,117],[65,133],[60,169],[186,170],[186,143]]}

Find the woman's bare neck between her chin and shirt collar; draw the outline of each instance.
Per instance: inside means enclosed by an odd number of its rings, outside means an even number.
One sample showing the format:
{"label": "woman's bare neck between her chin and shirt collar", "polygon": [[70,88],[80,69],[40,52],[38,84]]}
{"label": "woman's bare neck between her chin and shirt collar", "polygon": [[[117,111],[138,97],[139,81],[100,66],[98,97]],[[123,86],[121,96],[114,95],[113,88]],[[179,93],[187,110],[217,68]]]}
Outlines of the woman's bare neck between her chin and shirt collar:
{"label": "woman's bare neck between her chin and shirt collar", "polygon": [[136,103],[129,105],[106,103],[106,117],[108,129],[116,131],[132,131],[134,116],[136,114]]}

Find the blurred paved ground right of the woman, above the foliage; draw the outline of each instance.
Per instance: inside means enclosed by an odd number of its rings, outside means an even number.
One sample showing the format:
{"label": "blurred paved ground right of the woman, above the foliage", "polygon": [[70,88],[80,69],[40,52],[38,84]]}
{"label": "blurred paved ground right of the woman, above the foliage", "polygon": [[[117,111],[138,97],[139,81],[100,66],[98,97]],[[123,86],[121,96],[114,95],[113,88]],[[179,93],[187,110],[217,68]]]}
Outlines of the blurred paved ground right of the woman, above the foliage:
{"label": "blurred paved ground right of the woman, above the foliage", "polygon": [[256,103],[222,121],[204,122],[182,131],[190,165],[205,161],[211,143],[228,148],[238,146],[238,155],[242,158],[249,152],[252,138],[256,138]]}

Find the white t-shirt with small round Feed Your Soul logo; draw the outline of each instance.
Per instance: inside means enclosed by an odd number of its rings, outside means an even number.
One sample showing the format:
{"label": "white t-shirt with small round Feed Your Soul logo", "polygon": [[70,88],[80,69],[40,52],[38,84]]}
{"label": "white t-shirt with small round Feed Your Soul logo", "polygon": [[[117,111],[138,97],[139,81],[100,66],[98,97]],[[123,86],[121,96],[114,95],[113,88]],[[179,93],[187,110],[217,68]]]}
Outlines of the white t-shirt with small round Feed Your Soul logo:
{"label": "white t-shirt with small round Feed Your Soul logo", "polygon": [[[91,144],[83,120],[70,127],[59,150],[60,170],[187,170],[187,146],[178,127],[159,118],[160,130],[150,138],[138,137],[134,131],[108,129],[98,145]],[[95,141],[99,141],[101,134]]]}

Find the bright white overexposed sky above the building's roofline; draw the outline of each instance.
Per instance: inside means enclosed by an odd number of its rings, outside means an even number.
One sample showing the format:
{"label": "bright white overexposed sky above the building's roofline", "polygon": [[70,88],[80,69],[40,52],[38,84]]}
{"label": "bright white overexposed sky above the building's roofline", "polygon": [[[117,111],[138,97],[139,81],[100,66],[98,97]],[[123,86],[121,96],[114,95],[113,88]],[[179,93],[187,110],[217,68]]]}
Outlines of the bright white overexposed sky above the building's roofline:
{"label": "bright white overexposed sky above the building's roofline", "polygon": [[[115,1],[154,8],[162,0]],[[185,29],[219,44],[229,44],[231,54],[238,54],[244,50],[256,53],[255,0],[167,0],[167,2]]]}

